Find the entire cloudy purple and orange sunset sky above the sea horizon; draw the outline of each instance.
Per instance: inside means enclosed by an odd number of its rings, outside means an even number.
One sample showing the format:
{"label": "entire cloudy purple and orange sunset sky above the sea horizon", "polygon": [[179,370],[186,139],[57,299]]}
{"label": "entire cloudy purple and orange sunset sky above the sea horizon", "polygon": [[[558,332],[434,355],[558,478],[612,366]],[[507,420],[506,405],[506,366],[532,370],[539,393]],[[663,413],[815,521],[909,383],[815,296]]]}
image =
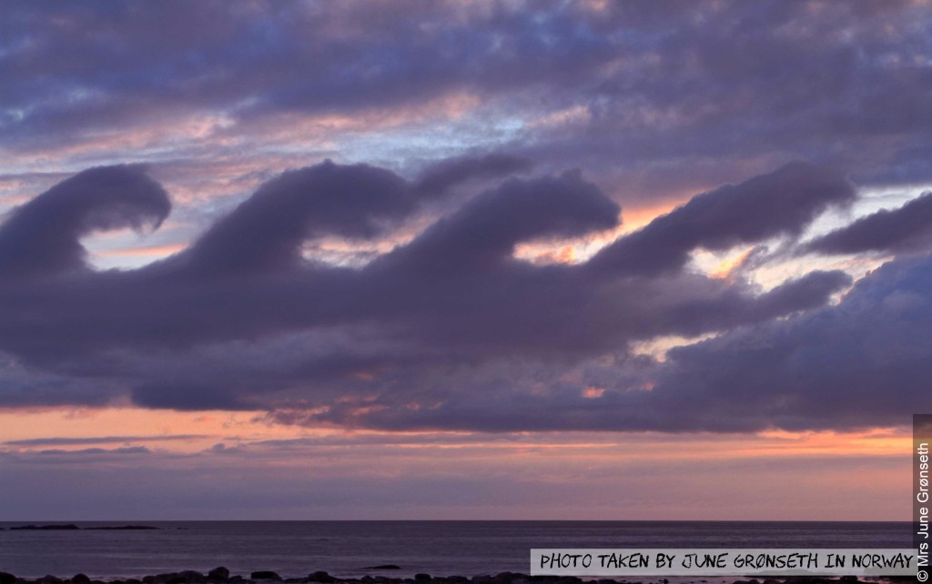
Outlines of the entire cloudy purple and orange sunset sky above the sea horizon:
{"label": "entire cloudy purple and orange sunset sky above the sea horizon", "polygon": [[930,27],[6,3],[0,518],[909,520]]}

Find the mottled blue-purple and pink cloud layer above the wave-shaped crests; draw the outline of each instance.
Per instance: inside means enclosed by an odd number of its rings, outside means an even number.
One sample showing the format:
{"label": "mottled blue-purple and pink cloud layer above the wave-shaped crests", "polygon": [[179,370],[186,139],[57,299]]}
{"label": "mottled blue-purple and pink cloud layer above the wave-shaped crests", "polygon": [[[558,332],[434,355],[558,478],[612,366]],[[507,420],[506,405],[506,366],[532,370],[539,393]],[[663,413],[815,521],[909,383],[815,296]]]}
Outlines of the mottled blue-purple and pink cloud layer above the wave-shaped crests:
{"label": "mottled blue-purple and pink cloud layer above the wave-shaped crests", "polygon": [[[88,156],[173,172],[225,158],[248,167],[241,179],[305,155],[308,132],[269,135],[308,123],[322,129],[321,156],[404,165],[508,149],[537,168],[584,167],[640,202],[799,158],[860,183],[930,180],[921,3],[707,1],[662,14],[585,3],[13,3],[5,15],[0,147],[28,168],[52,152],[56,170]],[[445,101],[456,105],[432,106]],[[374,123],[340,125],[365,116]]]}

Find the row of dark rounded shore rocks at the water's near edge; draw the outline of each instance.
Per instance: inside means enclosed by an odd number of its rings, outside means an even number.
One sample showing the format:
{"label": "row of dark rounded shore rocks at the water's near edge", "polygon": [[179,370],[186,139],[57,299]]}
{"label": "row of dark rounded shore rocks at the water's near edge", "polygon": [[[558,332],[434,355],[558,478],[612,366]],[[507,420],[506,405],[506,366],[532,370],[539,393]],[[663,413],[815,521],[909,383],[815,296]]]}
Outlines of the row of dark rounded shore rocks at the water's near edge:
{"label": "row of dark rounded shore rocks at the water's near edge", "polygon": [[[394,564],[384,564],[370,566],[366,569],[401,569]],[[915,577],[884,577],[882,579],[870,578],[870,580],[859,580],[854,576],[844,576],[841,578],[829,577],[773,577],[759,579],[735,579],[733,584],[877,584],[878,581],[884,582],[915,582]],[[580,577],[565,576],[528,576],[526,574],[517,574],[514,572],[502,572],[497,576],[446,576],[433,577],[429,574],[417,574],[415,577],[387,577],[387,576],[363,576],[359,578],[341,578],[334,577],[327,572],[319,571],[308,574],[306,577],[289,577],[282,578],[277,573],[263,570],[252,572],[249,577],[231,576],[226,567],[217,567],[207,574],[202,574],[195,570],[184,570],[182,572],[171,572],[168,574],[158,574],[154,576],[145,576],[142,578],[127,578],[123,580],[95,580],[84,574],[77,574],[74,577],[60,578],[54,576],[45,576],[40,578],[21,578],[6,572],[0,572],[0,584],[648,584],[650,582],[659,582],[660,584],[669,584],[665,578],[644,578],[642,580],[632,579],[597,579],[583,580]],[[696,584],[706,582],[705,579],[696,579]]]}

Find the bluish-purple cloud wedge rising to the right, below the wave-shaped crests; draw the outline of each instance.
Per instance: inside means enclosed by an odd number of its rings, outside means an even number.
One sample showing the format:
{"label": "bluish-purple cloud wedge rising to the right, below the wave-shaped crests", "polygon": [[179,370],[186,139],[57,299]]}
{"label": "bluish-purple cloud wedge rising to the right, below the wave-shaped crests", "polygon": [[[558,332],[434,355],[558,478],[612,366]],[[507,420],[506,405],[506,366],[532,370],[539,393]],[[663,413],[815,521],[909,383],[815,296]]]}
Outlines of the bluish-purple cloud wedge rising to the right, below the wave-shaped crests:
{"label": "bluish-purple cloud wedge rising to the right, below the wave-shaped crests", "polygon": [[[900,426],[932,407],[932,256],[897,260],[860,280],[837,306],[739,327],[670,351],[664,363],[486,367],[470,391],[430,408],[409,393],[343,401],[284,423],[383,429],[592,429],[751,432]],[[557,375],[577,377],[560,387]],[[535,387],[548,379],[545,390]],[[458,381],[449,375],[452,382]],[[405,380],[416,383],[413,380]],[[435,381],[431,379],[426,383]],[[643,383],[647,382],[647,383]],[[601,386],[601,387],[598,387]],[[582,387],[597,387],[585,395]],[[561,390],[562,389],[562,390]],[[426,387],[416,399],[426,399]]]}

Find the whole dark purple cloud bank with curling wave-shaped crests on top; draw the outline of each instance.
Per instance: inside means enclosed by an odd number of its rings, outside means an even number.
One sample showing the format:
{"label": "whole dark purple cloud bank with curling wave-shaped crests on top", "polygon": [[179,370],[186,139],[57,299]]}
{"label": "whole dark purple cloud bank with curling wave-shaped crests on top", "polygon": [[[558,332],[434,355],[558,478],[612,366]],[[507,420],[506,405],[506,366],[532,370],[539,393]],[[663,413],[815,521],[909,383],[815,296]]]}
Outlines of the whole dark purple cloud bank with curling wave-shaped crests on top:
{"label": "whole dark purple cloud bank with curling wave-shaped crests on top", "polygon": [[[932,258],[910,236],[927,197],[801,241],[857,191],[795,162],[698,194],[586,261],[537,265],[516,246],[610,233],[622,215],[579,170],[512,175],[527,170],[502,156],[411,180],[330,161],[290,170],[184,251],[128,270],[90,268],[81,238],[158,228],[169,197],[140,167],[80,172],[0,224],[0,405],[129,399],[347,428],[674,432],[882,426],[932,405]],[[476,191],[475,178],[496,183]],[[837,303],[852,284],[841,271],[761,290],[688,262],[775,238],[877,249],[825,243],[876,222],[910,236],[910,253]],[[307,255],[322,239],[388,251],[334,265]],[[712,338],[666,360],[633,349],[700,335]]]}

